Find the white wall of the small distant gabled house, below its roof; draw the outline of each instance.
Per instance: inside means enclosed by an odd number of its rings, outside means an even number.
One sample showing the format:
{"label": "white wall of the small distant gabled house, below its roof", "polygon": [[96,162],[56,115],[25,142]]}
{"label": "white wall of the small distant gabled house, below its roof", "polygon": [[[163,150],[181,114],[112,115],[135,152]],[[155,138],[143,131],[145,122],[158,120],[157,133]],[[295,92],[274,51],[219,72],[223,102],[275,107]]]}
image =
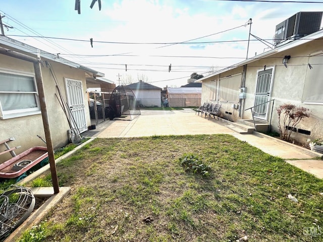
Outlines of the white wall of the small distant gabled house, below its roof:
{"label": "white wall of the small distant gabled house, below its roof", "polygon": [[153,89],[139,89],[139,90],[132,90],[136,96],[137,100],[141,100],[141,104],[148,107],[161,106],[161,99],[160,99],[160,90],[153,90]]}

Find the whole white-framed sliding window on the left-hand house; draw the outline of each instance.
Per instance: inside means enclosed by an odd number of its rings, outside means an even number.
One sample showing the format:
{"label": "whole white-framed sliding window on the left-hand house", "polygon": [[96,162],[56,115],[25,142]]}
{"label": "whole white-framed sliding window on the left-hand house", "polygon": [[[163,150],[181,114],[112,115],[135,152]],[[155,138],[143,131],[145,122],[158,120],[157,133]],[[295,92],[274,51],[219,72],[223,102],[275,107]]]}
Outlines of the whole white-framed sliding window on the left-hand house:
{"label": "whole white-framed sliding window on the left-hand house", "polygon": [[3,119],[40,113],[34,76],[0,70],[0,104]]}

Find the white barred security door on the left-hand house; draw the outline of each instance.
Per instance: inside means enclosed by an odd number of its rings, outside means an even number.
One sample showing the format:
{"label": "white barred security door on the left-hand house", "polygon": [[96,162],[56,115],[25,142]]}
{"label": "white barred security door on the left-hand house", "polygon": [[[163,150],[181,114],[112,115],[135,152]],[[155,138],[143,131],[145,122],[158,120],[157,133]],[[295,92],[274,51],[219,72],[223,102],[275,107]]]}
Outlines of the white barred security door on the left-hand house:
{"label": "white barred security door on the left-hand house", "polygon": [[[73,79],[65,79],[66,90],[68,96],[68,104],[74,120],[71,120],[74,129],[78,129],[80,133],[87,130],[85,119],[85,105],[83,100],[82,82]],[[77,127],[75,127],[76,123]]]}

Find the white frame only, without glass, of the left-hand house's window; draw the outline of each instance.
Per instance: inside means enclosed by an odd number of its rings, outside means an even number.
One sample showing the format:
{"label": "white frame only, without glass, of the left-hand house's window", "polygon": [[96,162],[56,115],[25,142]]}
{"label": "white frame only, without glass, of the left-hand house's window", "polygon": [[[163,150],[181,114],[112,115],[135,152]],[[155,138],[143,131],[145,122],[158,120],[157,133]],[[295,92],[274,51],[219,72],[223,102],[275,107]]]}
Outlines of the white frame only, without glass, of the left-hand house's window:
{"label": "white frame only, without glass, of the left-hand house's window", "polygon": [[[24,76],[24,77],[32,77],[34,80],[35,91],[34,92],[17,92],[17,93],[34,93],[36,105],[37,105],[37,107],[32,107],[32,108],[20,108],[20,109],[13,109],[13,110],[4,111],[2,108],[2,104],[0,102],[0,111],[1,111],[0,117],[1,117],[1,119],[8,119],[8,118],[15,118],[15,117],[40,114],[41,110],[40,110],[40,103],[39,103],[38,89],[37,89],[37,85],[36,85],[35,74],[29,73],[29,72],[10,70],[10,69],[2,69],[2,68],[0,68],[0,73],[7,73],[7,74],[12,74],[12,75],[17,75],[17,76]],[[0,90],[0,93],[8,93],[8,92],[4,92],[4,91]],[[15,93],[15,92],[12,92],[12,93]]]}

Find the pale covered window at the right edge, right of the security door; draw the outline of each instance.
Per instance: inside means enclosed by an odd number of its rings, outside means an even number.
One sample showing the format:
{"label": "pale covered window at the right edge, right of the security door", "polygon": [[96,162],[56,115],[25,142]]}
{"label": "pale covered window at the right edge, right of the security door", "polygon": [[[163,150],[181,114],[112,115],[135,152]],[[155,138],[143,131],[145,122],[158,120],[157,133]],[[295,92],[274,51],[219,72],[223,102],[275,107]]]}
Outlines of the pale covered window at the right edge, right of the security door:
{"label": "pale covered window at the right edge, right of the security door", "polygon": [[323,55],[313,55],[308,59],[302,101],[305,103],[323,103]]}

